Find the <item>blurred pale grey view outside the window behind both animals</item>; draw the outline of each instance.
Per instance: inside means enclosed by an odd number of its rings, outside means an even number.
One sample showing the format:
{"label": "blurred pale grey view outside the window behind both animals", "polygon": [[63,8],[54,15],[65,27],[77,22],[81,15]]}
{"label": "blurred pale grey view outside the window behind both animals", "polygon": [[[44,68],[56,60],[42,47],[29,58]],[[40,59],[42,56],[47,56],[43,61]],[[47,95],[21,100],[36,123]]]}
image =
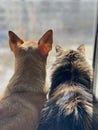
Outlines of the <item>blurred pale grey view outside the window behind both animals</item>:
{"label": "blurred pale grey view outside the window behind both animals", "polygon": [[97,0],[0,0],[0,94],[14,72],[8,30],[25,40],[38,40],[48,29],[53,29],[54,45],[47,70],[55,58],[57,44],[72,49],[85,44],[92,64],[96,14]]}

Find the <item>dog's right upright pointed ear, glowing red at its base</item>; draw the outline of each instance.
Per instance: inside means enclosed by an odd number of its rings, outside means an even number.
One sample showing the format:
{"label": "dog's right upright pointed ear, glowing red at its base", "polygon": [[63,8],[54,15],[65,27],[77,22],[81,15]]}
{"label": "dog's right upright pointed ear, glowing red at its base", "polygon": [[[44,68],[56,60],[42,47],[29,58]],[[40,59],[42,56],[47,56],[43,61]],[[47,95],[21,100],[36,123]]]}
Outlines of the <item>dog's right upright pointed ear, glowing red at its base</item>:
{"label": "dog's right upright pointed ear, glowing red at its base", "polygon": [[38,47],[42,56],[47,56],[52,49],[53,31],[48,30],[39,40]]}

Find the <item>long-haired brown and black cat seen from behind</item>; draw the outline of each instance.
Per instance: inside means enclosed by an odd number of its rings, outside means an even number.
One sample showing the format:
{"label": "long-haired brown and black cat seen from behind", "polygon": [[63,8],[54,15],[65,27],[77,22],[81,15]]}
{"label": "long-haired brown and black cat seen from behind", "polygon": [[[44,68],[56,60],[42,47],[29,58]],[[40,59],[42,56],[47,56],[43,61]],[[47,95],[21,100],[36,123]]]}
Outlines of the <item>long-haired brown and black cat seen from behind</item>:
{"label": "long-haired brown and black cat seen from behind", "polygon": [[49,99],[41,113],[37,130],[94,130],[93,71],[85,57],[85,47],[63,50],[56,47]]}

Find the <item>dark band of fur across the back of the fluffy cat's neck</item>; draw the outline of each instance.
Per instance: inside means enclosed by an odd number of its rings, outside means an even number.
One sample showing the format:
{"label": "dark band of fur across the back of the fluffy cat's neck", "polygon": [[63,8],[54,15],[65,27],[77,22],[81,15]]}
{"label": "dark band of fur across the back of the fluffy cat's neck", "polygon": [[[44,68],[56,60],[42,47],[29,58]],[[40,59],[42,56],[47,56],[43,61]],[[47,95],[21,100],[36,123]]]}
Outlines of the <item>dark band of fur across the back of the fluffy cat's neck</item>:
{"label": "dark band of fur across the back of the fluffy cat's neck", "polygon": [[[78,67],[79,66],[79,67]],[[54,67],[51,76],[50,95],[60,84],[81,84],[88,89],[92,86],[92,70],[88,64],[66,64],[59,67]]]}

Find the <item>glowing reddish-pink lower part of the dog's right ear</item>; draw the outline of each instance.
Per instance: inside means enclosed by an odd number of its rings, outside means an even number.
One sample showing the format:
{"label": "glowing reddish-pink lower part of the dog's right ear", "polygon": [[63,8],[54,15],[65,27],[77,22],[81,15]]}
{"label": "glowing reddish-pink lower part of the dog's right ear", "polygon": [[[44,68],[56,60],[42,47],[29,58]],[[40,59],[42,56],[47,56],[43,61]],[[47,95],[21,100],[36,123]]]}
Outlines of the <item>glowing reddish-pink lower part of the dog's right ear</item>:
{"label": "glowing reddish-pink lower part of the dog's right ear", "polygon": [[52,44],[46,43],[40,46],[40,53],[43,56],[47,56],[49,51],[52,49]]}

